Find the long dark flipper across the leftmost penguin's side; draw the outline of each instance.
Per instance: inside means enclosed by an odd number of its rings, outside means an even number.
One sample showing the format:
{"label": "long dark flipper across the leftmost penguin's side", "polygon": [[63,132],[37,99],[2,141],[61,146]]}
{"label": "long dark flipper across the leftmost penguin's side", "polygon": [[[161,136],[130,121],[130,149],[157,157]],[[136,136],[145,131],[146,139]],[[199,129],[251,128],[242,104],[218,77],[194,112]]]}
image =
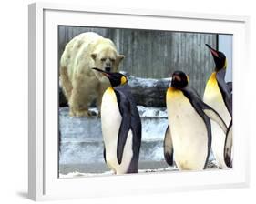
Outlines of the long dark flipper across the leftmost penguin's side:
{"label": "long dark flipper across the leftmost penguin's side", "polygon": [[114,90],[118,99],[119,112],[122,116],[122,121],[118,132],[117,148],[118,164],[121,164],[125,144],[128,138],[128,131],[130,130],[131,127],[130,103],[128,101],[128,98],[124,93],[122,93],[122,91],[120,91],[117,88],[115,88]]}

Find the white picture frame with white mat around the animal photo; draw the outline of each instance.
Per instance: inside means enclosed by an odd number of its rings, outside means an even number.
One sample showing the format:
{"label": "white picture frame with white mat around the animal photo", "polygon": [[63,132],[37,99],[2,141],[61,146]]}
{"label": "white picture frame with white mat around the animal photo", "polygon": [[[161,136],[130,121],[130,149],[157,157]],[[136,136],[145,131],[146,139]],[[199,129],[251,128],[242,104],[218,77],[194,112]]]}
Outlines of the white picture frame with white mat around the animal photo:
{"label": "white picture frame with white mat around the animal photo", "polygon": [[[244,119],[249,17],[172,11],[29,5],[28,196],[34,200],[226,189],[249,185],[249,130]],[[97,19],[97,21],[95,20]],[[137,22],[137,24],[134,24]],[[234,164],[229,170],[58,179],[57,25],[145,28],[233,35]],[[168,182],[167,182],[168,181]]]}

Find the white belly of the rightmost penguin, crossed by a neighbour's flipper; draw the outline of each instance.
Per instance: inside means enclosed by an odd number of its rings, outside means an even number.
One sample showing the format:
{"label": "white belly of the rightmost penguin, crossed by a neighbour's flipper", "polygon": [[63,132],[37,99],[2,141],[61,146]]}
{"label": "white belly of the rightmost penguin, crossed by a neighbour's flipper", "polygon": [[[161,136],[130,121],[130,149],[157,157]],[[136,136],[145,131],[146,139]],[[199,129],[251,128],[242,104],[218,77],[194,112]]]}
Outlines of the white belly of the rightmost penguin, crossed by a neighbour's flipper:
{"label": "white belly of the rightmost penguin, crossed by a neighbour's flipper", "polygon": [[[225,106],[225,103],[220,93],[220,89],[217,84],[207,85],[207,87],[205,88],[203,101],[219,113],[220,117],[224,120],[227,127],[230,125],[230,113]],[[214,157],[216,158],[217,165],[220,168],[227,168],[223,157],[226,135],[216,122],[210,120],[210,124],[212,133],[211,148]]]}

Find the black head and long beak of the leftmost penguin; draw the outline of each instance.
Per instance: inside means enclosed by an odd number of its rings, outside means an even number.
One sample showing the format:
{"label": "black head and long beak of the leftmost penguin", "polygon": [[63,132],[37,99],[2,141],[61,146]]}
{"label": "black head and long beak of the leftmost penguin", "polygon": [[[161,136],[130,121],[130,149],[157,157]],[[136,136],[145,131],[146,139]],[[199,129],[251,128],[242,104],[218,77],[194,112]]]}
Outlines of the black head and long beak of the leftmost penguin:
{"label": "black head and long beak of the leftmost penguin", "polygon": [[93,68],[98,72],[101,72],[104,76],[107,76],[112,87],[118,87],[120,85],[124,85],[128,82],[127,76],[122,75],[118,72],[107,72],[98,68]]}

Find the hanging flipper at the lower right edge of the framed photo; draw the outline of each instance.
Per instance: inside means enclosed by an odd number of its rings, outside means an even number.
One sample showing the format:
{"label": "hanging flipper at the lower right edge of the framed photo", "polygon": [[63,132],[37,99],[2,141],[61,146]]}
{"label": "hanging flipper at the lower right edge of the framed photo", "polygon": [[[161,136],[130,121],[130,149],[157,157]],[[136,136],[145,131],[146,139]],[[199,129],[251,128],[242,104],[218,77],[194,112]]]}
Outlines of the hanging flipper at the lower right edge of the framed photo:
{"label": "hanging flipper at the lower right edge of the framed photo", "polygon": [[231,161],[231,150],[232,150],[232,143],[233,143],[233,137],[232,137],[232,120],[230,122],[230,126],[227,131],[227,136],[225,140],[225,146],[224,146],[224,160],[227,165],[227,167],[232,167],[232,161]]}

